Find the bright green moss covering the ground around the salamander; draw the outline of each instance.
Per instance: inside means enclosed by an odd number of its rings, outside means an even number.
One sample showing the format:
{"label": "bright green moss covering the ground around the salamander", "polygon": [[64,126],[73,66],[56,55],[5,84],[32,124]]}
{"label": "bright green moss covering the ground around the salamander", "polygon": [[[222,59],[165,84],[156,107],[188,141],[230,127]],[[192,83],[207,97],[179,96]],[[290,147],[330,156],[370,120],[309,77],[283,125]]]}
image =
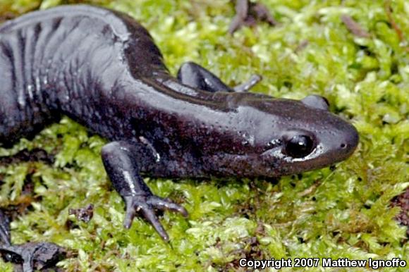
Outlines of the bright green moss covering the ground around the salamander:
{"label": "bright green moss covering the ground around the salamander", "polygon": [[[34,3],[0,1],[0,11],[16,13]],[[405,228],[393,220],[399,211],[389,204],[409,185],[408,43],[391,27],[383,1],[266,0],[281,24],[245,27],[233,37],[226,35],[234,14],[228,0],[91,2],[140,20],[172,73],[190,60],[231,85],[260,73],[264,80],[254,92],[295,99],[324,95],[331,111],[358,128],[360,144],[335,170],[284,177],[276,184],[147,178],[155,193],[183,203],[190,212],[188,219],[170,213],[161,218],[171,237],[167,245],[140,219],[123,229],[123,202],[99,157],[104,140],[63,118],[32,141],[0,149],[0,155],[25,147],[57,152],[54,166],[0,168],[2,206],[23,202],[28,176],[35,185],[32,211],[11,225],[13,242],[49,241],[78,251],[78,257],[61,261],[68,271],[215,271],[237,267],[243,256],[409,261]],[[41,6],[63,3],[49,0]],[[407,1],[391,5],[393,20],[408,38]],[[350,33],[340,19],[345,13],[370,38]],[[68,209],[90,203],[95,207],[90,223],[68,216]],[[68,220],[75,228],[66,228]]]}

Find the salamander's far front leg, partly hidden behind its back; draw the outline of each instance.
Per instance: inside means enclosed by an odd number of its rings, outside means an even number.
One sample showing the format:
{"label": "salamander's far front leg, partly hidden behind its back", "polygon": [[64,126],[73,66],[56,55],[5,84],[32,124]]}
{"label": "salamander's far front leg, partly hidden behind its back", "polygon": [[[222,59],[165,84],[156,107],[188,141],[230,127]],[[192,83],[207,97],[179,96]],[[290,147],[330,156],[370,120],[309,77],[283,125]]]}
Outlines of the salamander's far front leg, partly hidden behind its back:
{"label": "salamander's far front leg, partly hidden behind its back", "polygon": [[236,87],[228,87],[224,82],[197,63],[183,63],[178,70],[178,80],[185,85],[207,92],[247,92],[261,80],[260,75],[252,75],[250,80]]}

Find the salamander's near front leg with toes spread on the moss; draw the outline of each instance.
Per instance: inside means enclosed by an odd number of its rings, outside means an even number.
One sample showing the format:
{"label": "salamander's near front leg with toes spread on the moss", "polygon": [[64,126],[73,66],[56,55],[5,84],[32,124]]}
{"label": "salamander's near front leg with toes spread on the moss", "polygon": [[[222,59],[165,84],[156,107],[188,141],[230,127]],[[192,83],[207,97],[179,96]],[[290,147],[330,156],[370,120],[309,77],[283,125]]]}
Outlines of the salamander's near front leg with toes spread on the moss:
{"label": "salamander's near front leg with toes spread on the moss", "polygon": [[102,148],[102,161],[111,183],[126,203],[124,227],[130,228],[138,213],[157,230],[163,240],[169,241],[169,235],[159,222],[155,210],[178,211],[185,217],[188,212],[183,206],[157,197],[149,190],[140,176],[142,159],[149,156],[140,154],[143,150],[146,149],[138,148],[138,144],[111,142]]}

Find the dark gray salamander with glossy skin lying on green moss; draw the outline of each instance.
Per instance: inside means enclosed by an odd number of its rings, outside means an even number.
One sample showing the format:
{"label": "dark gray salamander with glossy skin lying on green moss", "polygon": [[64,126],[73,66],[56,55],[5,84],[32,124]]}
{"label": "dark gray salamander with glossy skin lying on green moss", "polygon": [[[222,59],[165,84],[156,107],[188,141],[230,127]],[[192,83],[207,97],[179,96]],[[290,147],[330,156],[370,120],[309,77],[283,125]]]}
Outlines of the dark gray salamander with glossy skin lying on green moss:
{"label": "dark gray salamander with glossy skin lying on green moss", "polygon": [[152,177],[267,178],[329,166],[358,133],[326,100],[274,99],[235,88],[195,63],[169,75],[149,33],[92,6],[36,11],[0,27],[0,143],[66,115],[110,142],[102,159],[126,202],[169,240],[155,209],[188,213],[149,190]]}

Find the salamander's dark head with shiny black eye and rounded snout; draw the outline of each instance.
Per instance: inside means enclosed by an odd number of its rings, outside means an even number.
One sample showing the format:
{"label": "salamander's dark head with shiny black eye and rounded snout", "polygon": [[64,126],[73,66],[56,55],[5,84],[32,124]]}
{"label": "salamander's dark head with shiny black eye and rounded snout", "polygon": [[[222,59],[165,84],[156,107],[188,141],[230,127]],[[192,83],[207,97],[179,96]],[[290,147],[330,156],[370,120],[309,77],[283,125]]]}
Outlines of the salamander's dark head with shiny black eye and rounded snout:
{"label": "salamander's dark head with shiny black eye and rounded snout", "polygon": [[[347,159],[358,145],[358,132],[330,113],[323,97],[248,100],[239,115],[252,126],[252,175],[291,175]],[[249,110],[250,109],[250,110]],[[240,111],[243,113],[240,114]],[[250,120],[251,119],[251,120]],[[257,158],[257,159],[256,159]]]}

